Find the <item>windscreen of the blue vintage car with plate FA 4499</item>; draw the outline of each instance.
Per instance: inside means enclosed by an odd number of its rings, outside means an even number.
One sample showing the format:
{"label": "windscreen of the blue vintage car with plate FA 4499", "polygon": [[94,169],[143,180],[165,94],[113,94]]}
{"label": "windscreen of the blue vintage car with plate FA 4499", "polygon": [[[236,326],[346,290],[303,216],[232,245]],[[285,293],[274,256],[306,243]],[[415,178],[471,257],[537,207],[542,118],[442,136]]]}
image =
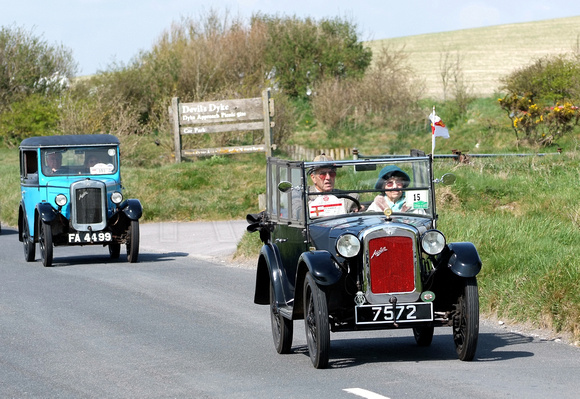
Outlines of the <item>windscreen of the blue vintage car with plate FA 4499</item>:
{"label": "windscreen of the blue vintage car with plate FA 4499", "polygon": [[118,168],[115,146],[43,148],[40,155],[45,176],[110,175]]}

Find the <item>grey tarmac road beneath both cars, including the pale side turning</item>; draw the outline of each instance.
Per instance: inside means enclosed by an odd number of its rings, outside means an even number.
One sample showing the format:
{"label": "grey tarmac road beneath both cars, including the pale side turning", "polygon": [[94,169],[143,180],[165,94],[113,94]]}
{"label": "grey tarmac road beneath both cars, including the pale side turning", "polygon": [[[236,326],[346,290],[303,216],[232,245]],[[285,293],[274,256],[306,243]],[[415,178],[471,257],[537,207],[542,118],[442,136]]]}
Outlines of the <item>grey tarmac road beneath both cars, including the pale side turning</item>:
{"label": "grey tarmac road beneath both cars, including the pale side turning", "polygon": [[[576,398],[580,349],[484,323],[473,362],[451,332],[429,348],[409,330],[331,335],[310,363],[302,321],[278,355],[252,265],[231,254],[243,222],[141,226],[139,263],[102,247],[24,261],[0,235],[2,398]],[[212,242],[208,245],[208,242]],[[38,250],[37,250],[38,251]]]}

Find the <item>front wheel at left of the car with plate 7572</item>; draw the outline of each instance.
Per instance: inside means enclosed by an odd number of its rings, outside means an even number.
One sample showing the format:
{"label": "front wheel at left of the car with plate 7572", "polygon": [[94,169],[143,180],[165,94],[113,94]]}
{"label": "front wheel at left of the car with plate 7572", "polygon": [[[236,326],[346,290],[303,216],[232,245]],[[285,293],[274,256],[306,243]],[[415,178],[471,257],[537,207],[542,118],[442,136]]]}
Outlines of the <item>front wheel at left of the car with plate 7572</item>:
{"label": "front wheel at left of the car with plate 7572", "polygon": [[317,369],[326,368],[330,351],[328,306],[324,292],[318,287],[310,272],[306,273],[304,280],[304,326],[312,364]]}

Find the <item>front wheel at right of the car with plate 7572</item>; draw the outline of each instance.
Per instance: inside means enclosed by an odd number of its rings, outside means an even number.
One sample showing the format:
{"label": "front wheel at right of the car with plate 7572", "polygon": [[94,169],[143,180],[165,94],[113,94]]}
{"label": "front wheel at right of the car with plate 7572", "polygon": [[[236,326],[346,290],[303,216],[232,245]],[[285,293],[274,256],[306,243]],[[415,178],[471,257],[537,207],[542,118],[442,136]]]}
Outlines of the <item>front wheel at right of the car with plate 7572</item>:
{"label": "front wheel at right of the car with plate 7572", "polygon": [[479,336],[479,294],[475,277],[463,280],[463,292],[453,319],[453,341],[459,359],[469,361],[475,356]]}

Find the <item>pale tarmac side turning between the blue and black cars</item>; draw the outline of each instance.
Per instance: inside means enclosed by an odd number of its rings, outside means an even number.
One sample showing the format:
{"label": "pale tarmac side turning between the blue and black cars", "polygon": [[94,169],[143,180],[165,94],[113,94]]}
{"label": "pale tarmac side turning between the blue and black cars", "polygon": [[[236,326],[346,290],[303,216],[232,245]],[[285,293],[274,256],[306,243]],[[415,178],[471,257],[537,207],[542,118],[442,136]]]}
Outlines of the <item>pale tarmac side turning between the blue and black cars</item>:
{"label": "pale tarmac side turning between the blue and black cars", "polygon": [[141,223],[140,252],[186,253],[209,261],[231,262],[247,226],[245,220]]}

